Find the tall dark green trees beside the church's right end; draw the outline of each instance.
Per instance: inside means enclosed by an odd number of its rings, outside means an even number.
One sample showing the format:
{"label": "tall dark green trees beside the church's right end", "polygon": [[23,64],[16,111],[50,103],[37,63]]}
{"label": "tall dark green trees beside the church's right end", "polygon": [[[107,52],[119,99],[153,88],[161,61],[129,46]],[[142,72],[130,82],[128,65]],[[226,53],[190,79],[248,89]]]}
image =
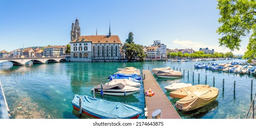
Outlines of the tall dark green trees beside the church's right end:
{"label": "tall dark green trees beside the church's right end", "polygon": [[126,43],[124,43],[122,47],[122,52],[125,53],[125,57],[128,59],[128,61],[136,58],[143,60],[146,56],[143,52],[143,46],[134,43],[133,35],[133,32],[129,32],[128,39],[126,39]]}

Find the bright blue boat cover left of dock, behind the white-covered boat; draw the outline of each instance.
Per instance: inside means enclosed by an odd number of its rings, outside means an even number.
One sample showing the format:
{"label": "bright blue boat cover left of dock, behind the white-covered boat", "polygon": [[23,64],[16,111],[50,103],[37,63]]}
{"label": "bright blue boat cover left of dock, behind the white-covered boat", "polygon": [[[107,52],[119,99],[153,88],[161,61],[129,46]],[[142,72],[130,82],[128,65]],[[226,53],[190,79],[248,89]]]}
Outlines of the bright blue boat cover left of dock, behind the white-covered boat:
{"label": "bright blue boat cover left of dock, behind the white-covered boat", "polygon": [[140,82],[141,77],[139,75],[136,74],[113,74],[109,76],[110,80],[113,79],[129,79],[132,80],[134,82]]}

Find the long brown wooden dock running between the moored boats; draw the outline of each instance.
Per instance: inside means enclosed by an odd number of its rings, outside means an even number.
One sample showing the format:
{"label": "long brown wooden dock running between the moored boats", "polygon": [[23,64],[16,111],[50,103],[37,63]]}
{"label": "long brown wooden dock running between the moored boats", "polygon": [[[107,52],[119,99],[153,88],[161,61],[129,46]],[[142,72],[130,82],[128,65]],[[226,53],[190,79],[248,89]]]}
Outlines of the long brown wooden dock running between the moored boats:
{"label": "long brown wooden dock running between the moored boats", "polygon": [[[175,108],[163,92],[162,88],[158,85],[157,80],[152,75],[150,70],[142,70],[144,93],[147,90],[155,92],[154,96],[145,96],[145,106],[148,111],[148,119],[152,118],[152,112],[156,109],[161,109],[162,119],[180,119],[180,115],[176,112]],[[145,78],[144,78],[145,74]]]}

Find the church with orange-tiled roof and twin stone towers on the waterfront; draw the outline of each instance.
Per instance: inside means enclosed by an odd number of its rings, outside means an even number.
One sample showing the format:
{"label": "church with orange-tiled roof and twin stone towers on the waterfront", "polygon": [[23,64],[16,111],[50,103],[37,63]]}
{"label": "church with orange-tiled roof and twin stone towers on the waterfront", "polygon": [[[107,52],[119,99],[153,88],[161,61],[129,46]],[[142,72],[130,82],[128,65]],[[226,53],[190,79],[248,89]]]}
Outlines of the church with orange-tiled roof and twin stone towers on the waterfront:
{"label": "church with orange-tiled roof and twin stone towers on the waterfront", "polygon": [[78,18],[70,32],[71,62],[119,62],[122,58],[122,42],[117,35],[81,36]]}

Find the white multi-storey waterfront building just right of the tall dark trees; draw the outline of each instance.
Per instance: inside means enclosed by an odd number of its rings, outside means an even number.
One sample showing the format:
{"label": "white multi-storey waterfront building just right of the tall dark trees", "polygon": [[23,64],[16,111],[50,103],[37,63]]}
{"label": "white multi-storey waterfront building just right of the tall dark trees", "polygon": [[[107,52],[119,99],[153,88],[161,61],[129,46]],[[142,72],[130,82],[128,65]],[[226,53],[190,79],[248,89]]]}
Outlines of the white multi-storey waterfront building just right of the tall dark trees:
{"label": "white multi-storey waterfront building just right of the tall dark trees", "polygon": [[148,47],[146,50],[147,58],[148,59],[161,59],[161,49],[157,47]]}

